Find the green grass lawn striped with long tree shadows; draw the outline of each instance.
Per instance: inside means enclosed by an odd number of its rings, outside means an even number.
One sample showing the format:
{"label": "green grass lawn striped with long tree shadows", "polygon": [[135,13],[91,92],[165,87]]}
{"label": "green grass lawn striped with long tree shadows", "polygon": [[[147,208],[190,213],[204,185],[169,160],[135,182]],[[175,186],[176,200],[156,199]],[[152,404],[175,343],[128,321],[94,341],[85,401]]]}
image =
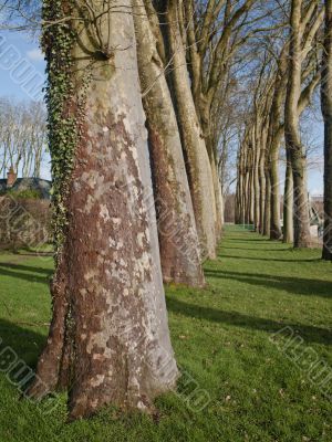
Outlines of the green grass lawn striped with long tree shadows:
{"label": "green grass lawn striped with long tree shadows", "polygon": [[[1,347],[11,346],[32,367],[48,330],[51,272],[50,257],[0,255]],[[293,251],[229,228],[206,276],[204,291],[167,288],[183,377],[177,394],[157,401],[157,418],[106,409],[66,424],[64,397],[45,414],[49,403],[19,400],[2,373],[0,441],[331,442],[331,400],[310,381],[305,358],[295,362],[295,352],[271,339],[289,326],[305,355],[332,367],[331,264],[320,261],[318,250]],[[197,411],[195,398],[207,407]]]}

